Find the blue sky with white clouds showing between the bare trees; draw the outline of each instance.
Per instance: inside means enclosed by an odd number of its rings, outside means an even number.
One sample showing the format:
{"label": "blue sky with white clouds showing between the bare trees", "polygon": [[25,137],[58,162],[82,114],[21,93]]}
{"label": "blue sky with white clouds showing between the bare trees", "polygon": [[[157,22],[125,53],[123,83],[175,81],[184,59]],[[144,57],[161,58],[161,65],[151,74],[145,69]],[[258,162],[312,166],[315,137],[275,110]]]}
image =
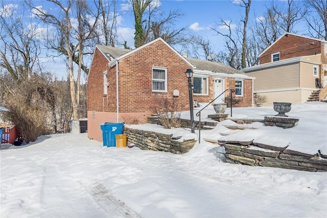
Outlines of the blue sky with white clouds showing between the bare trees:
{"label": "blue sky with white clouds showing between the bare trees", "polygon": [[[210,30],[211,27],[219,28],[219,23],[222,20],[231,21],[232,25],[237,25],[240,22],[242,16],[244,16],[244,8],[237,6],[237,1],[166,1],[166,0],[155,0],[159,1],[159,9],[162,12],[169,13],[170,10],[179,10],[183,16],[176,23],[176,28],[187,27],[189,33],[198,34],[204,38],[211,40],[212,46],[215,52],[218,53],[223,49],[223,38],[217,36],[217,34]],[[53,5],[45,1],[32,1],[34,6],[39,6],[45,11],[55,11],[58,8],[53,8]],[[121,38],[120,41],[123,43],[127,41],[127,45],[134,47],[134,17],[131,7],[128,7],[127,0],[117,2],[117,10],[121,15],[118,23],[118,33]],[[14,4],[20,5],[20,1],[3,1],[3,4]],[[89,1],[92,3],[92,1]],[[283,3],[283,1],[277,1],[277,3]],[[271,1],[253,1],[250,9],[249,23],[255,21],[257,17],[263,15],[266,5],[271,4]],[[18,6],[17,6],[18,7]],[[24,9],[25,16],[31,16],[31,11]],[[40,31],[49,31],[44,26],[40,26]],[[305,30],[304,27],[299,27],[298,34],[301,34],[301,29]],[[221,29],[220,29],[221,30]],[[222,30],[223,31],[223,30]],[[177,49],[177,48],[176,48]],[[178,50],[178,49],[177,49]],[[51,53],[52,51],[45,51]],[[182,52],[182,51],[179,51]],[[88,61],[89,62],[89,61]],[[46,68],[56,72],[58,78],[65,78],[67,75],[66,65],[62,58],[45,58],[44,53],[44,64]]]}

